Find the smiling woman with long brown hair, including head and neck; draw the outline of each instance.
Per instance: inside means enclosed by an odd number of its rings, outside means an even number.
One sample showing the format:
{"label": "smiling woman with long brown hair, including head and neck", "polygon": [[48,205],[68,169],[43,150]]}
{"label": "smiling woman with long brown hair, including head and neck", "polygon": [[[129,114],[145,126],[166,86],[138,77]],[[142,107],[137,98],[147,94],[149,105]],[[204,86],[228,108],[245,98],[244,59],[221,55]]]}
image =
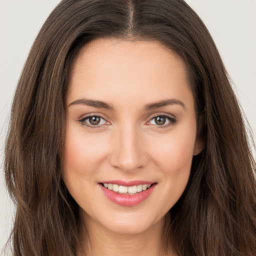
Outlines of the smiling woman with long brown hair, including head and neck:
{"label": "smiling woman with long brown hair, including head and neck", "polygon": [[255,162],[182,0],[62,0],[13,100],[14,255],[254,255]]}

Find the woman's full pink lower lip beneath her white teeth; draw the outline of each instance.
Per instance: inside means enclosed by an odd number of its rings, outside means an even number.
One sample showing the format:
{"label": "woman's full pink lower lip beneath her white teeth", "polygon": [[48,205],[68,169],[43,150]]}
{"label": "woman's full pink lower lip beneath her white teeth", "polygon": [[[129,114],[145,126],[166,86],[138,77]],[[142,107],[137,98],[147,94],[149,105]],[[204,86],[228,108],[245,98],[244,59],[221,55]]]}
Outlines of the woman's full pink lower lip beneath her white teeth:
{"label": "woman's full pink lower lip beneath her white teeth", "polygon": [[101,184],[99,184],[105,196],[112,202],[122,205],[122,206],[134,206],[144,201],[153,191],[156,183],[152,184],[146,190],[137,192],[135,194],[119,194],[113,190],[107,189]]}

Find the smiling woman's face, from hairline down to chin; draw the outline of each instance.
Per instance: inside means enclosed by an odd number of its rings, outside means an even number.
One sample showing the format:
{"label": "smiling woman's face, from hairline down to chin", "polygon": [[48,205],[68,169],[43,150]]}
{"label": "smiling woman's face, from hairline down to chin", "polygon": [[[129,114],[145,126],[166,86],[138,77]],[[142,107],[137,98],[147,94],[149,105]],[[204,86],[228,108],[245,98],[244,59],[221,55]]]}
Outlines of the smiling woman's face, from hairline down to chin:
{"label": "smiling woman's face, from hairline down to chin", "polygon": [[201,150],[180,58],[157,41],[96,39],[73,60],[66,102],[63,179],[85,224],[161,223]]}

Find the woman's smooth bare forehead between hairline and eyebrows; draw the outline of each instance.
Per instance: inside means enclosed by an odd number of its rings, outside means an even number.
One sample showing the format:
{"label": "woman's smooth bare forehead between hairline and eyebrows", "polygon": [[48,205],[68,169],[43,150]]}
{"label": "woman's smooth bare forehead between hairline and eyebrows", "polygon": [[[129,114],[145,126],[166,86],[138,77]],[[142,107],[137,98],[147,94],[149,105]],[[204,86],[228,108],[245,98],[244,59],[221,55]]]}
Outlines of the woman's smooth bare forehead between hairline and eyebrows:
{"label": "woman's smooth bare forehead between hairline and eyebrows", "polygon": [[68,97],[157,101],[191,94],[185,66],[158,41],[95,39],[72,61]]}

